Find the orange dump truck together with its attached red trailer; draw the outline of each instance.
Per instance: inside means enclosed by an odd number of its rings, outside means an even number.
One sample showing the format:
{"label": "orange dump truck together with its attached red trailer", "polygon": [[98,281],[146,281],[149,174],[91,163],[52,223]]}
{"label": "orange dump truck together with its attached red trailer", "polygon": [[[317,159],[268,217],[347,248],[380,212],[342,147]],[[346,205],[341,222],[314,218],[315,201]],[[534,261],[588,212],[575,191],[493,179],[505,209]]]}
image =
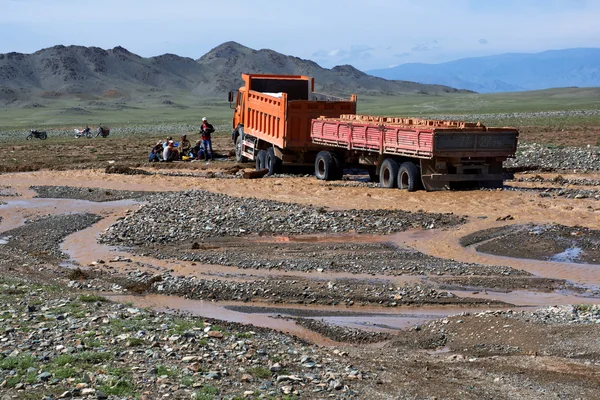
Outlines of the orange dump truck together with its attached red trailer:
{"label": "orange dump truck together with its attached red trailer", "polygon": [[284,165],[314,166],[318,179],[341,179],[361,167],[381,187],[440,190],[501,187],[502,162],[514,156],[518,131],[480,123],[356,114],[349,100],[314,92],[314,79],[242,75],[232,140],[238,162],[269,174]]}

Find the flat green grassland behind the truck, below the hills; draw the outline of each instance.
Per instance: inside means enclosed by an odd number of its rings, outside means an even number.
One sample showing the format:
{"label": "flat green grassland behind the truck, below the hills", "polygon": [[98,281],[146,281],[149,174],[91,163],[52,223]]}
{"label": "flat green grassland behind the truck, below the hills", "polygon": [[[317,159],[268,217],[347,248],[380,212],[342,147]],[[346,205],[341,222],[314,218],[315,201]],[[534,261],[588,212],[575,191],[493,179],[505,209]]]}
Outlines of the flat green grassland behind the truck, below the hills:
{"label": "flat green grassland behind the truck, below the hills", "polygon": [[[232,110],[223,98],[190,93],[138,91],[134,96],[36,99],[0,107],[0,132],[28,129],[71,131],[95,127],[182,124],[197,127],[203,116],[229,129]],[[588,110],[588,113],[574,113]],[[359,96],[361,114],[479,120],[517,127],[600,126],[600,88],[562,88],[517,93]],[[565,113],[562,113],[562,112]],[[550,113],[547,113],[550,112]],[[564,115],[563,115],[564,114]],[[143,130],[143,129],[142,129]]]}

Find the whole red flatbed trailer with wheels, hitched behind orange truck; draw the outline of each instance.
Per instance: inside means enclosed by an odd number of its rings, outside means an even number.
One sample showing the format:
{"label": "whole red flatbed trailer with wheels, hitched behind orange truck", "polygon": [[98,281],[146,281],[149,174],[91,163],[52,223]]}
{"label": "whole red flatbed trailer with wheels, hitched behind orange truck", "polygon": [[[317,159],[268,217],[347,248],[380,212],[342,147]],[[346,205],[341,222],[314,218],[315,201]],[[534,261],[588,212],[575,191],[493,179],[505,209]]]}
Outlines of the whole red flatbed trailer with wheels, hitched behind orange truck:
{"label": "whole red flatbed trailer with wheels, hitched behind orange truck", "polygon": [[312,121],[321,180],[362,165],[384,188],[428,191],[502,187],[502,163],[514,157],[519,132],[481,123],[348,114]]}

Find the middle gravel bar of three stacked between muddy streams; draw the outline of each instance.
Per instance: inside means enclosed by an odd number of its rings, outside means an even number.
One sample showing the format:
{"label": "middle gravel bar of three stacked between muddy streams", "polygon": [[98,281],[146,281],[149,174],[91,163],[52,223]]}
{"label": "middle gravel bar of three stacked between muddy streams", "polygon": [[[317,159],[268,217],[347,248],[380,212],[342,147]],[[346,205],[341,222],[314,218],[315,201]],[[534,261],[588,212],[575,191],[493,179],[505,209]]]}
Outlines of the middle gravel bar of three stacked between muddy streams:
{"label": "middle gravel bar of three stacked between muddy streams", "polygon": [[377,275],[528,275],[505,266],[432,257],[389,243],[210,241],[202,245],[195,242],[186,247],[140,247],[135,251],[156,258],[247,269]]}

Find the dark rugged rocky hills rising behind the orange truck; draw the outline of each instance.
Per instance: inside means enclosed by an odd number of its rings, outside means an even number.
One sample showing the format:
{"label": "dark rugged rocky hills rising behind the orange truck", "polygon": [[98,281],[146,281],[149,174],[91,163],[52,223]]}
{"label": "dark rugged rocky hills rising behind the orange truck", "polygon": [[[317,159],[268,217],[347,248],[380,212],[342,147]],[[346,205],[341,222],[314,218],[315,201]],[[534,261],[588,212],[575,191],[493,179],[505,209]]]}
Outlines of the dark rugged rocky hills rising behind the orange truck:
{"label": "dark rugged rocky hills rising behind the orange truck", "polygon": [[349,65],[321,68],[310,60],[253,50],[235,42],[224,43],[198,60],[174,54],[144,58],[122,47],[54,46],[33,54],[0,54],[0,105],[74,95],[127,100],[148,91],[186,91],[211,97],[237,88],[243,72],[314,76],[317,90],[329,94],[457,91],[441,85],[388,81]]}

